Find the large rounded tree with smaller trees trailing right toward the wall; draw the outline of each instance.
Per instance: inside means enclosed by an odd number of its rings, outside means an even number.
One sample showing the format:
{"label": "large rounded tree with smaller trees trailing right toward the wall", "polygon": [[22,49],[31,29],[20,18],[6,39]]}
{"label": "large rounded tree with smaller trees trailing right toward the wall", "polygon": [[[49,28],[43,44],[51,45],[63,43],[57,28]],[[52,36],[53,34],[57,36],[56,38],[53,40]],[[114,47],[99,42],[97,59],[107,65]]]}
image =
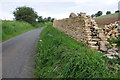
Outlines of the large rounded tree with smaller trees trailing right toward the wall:
{"label": "large rounded tree with smaller trees trailing right toward the wall", "polygon": [[55,18],[38,16],[37,12],[30,7],[18,7],[13,12],[16,21],[25,21],[32,25],[36,23],[53,22]]}

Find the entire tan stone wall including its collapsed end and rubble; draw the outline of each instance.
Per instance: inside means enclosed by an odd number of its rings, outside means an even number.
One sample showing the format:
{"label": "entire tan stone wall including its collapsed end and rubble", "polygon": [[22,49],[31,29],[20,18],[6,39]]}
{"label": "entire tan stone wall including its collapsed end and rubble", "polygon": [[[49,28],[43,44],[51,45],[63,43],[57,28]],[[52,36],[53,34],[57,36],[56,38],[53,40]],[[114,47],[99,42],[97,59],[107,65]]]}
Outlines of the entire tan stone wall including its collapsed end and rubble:
{"label": "entire tan stone wall including its collapsed end and rubble", "polygon": [[[71,13],[69,18],[55,20],[53,26],[68,34],[71,38],[87,43],[91,49],[118,56],[116,44],[107,41],[109,38],[118,38],[117,22],[106,25],[102,29],[98,27],[95,20],[89,15],[79,14],[76,16],[75,13]],[[110,48],[111,50],[108,49],[109,46],[112,47]],[[105,56],[109,57],[110,55],[107,54]]]}

